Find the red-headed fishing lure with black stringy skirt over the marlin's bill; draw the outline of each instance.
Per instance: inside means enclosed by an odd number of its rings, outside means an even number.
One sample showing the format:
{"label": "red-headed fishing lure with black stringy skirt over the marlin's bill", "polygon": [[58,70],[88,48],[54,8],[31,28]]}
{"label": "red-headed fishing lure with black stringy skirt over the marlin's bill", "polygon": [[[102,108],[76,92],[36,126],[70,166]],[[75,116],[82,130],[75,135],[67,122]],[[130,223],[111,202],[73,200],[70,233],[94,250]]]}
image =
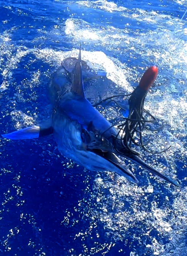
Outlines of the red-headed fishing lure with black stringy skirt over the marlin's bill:
{"label": "red-headed fishing lure with black stringy skirt over the marlin's bill", "polygon": [[[139,154],[135,151],[135,146],[141,147],[149,154],[160,154],[167,151],[171,147],[169,146],[168,148],[160,152],[154,152],[148,150],[146,147],[150,143],[150,140],[148,140],[147,142],[143,142],[144,131],[147,130],[150,132],[156,132],[164,128],[164,124],[161,121],[158,121],[156,117],[154,117],[148,110],[144,109],[145,97],[147,95],[148,89],[155,81],[157,73],[158,69],[156,67],[150,67],[143,74],[139,86],[137,86],[131,94],[118,94],[110,96],[93,105],[93,107],[97,107],[98,105],[102,105],[104,102],[107,101],[107,104],[109,104],[110,102],[114,102],[114,104],[116,104],[120,110],[126,111],[126,109],[124,109],[124,107],[122,107],[121,104],[119,104],[119,102],[117,100],[114,100],[113,98],[129,97],[128,117],[121,117],[117,122],[110,126],[110,128],[117,126],[118,132],[114,137],[113,144],[115,151],[120,154]],[[148,126],[148,123],[158,125],[158,122],[161,122],[158,127],[150,128]],[[105,130],[101,136],[103,136],[106,131],[110,130],[110,128]]]}

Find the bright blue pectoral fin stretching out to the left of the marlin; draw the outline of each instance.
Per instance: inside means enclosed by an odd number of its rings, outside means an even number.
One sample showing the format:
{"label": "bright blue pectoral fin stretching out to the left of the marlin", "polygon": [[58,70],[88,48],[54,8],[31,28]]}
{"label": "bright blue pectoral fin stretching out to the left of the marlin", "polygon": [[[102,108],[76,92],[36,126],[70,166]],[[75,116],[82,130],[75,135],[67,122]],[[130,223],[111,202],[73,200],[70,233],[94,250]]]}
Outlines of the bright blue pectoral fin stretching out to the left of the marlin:
{"label": "bright blue pectoral fin stretching out to the left of the marlin", "polygon": [[47,136],[53,133],[53,127],[41,128],[40,126],[30,126],[12,133],[2,134],[3,138],[11,140],[35,139]]}

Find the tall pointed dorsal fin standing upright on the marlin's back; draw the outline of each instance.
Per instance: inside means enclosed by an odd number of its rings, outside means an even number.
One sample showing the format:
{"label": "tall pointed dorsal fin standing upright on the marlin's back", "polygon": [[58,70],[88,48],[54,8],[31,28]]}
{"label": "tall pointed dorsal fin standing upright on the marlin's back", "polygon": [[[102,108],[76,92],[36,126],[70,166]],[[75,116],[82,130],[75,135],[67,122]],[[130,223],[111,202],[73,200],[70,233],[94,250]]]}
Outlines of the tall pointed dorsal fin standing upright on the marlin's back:
{"label": "tall pointed dorsal fin standing upright on the marlin's back", "polygon": [[81,65],[81,45],[79,51],[79,58],[75,64],[75,67],[72,71],[72,91],[85,98],[84,86],[82,79],[82,65]]}

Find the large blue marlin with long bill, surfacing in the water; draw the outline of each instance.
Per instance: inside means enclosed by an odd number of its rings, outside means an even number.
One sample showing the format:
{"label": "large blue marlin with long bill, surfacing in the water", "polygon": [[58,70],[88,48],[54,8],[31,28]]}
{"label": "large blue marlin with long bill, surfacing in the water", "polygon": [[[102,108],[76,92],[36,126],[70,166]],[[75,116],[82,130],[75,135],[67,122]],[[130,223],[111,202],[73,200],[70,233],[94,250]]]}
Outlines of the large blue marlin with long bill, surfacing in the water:
{"label": "large blue marlin with long bill, surfacing in the water", "polygon": [[[53,134],[61,154],[87,170],[111,171],[139,183],[120,159],[122,156],[179,187],[176,181],[146,164],[137,152],[124,149],[118,131],[86,99],[82,66],[88,67],[81,60],[80,49],[78,58],[66,58],[52,74],[48,87],[52,106],[50,118],[39,125],[3,134],[3,138],[34,139]],[[86,73],[90,74],[89,68],[86,68]],[[95,74],[97,75],[102,76],[100,73]],[[151,80],[149,77],[146,86],[153,83],[154,76],[155,72],[152,72]]]}

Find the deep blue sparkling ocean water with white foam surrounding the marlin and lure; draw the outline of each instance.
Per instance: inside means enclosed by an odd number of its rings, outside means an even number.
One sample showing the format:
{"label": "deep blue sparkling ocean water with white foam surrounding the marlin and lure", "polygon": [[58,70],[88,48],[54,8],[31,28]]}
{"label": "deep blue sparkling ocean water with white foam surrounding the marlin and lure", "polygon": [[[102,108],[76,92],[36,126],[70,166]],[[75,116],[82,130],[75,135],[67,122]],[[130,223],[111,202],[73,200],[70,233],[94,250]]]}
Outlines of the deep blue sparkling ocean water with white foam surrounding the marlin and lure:
{"label": "deep blue sparkling ocean water with white foam surrounding the marlin and lure", "polygon": [[[0,138],[0,255],[187,255],[186,10],[186,0],[0,0],[1,134],[47,116],[50,75],[77,57],[81,42],[82,59],[107,74],[97,90],[87,85],[93,100],[93,92],[131,92],[148,66],[158,66],[145,109],[165,124],[152,147],[172,147],[141,154],[181,184],[130,163],[139,185],[86,172],[51,136]],[[114,118],[114,107],[103,115]]]}

